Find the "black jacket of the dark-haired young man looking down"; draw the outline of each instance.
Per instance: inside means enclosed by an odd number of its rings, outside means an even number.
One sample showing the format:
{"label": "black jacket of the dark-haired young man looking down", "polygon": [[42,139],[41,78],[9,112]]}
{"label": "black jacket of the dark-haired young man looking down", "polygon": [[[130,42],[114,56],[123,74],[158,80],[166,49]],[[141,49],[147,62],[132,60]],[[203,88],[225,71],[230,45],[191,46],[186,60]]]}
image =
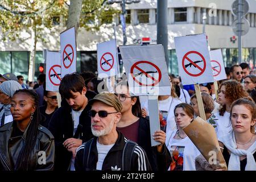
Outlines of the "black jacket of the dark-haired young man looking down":
{"label": "black jacket of the dark-haired young man looking down", "polygon": [[[87,91],[85,96],[88,101],[96,96],[95,93]],[[49,130],[55,138],[55,167],[57,171],[67,171],[71,164],[72,152],[63,146],[63,142],[68,138],[82,139],[82,143],[93,138],[90,128],[90,117],[88,111],[91,106],[86,105],[79,118],[77,132],[73,135],[73,119],[71,115],[72,107],[68,105],[65,99],[61,102],[61,107],[55,111],[49,122]]]}

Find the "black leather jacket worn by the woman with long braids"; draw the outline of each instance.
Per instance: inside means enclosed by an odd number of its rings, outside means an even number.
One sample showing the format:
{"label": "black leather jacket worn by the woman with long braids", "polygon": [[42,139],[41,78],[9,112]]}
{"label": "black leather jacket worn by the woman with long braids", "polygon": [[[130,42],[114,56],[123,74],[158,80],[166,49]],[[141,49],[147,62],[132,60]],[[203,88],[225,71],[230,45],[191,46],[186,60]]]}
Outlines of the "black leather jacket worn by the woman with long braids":
{"label": "black leather jacket worn by the woman with long braids", "polygon": [[[14,171],[20,151],[26,142],[27,129],[23,135],[12,137],[16,123],[10,122],[0,127],[0,171]],[[17,127],[16,127],[17,128]],[[55,158],[53,135],[45,127],[39,125],[38,135],[32,149],[30,162],[35,171],[52,171]]]}

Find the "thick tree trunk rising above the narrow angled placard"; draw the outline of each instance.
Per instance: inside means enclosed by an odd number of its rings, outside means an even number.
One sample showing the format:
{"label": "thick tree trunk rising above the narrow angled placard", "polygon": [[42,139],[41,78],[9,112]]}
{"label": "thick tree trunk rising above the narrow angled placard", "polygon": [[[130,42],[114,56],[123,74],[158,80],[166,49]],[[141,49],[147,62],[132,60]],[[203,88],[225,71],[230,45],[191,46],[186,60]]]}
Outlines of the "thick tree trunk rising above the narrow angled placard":
{"label": "thick tree trunk rising above the narrow angled placard", "polygon": [[76,37],[79,28],[80,14],[82,10],[82,0],[71,0],[68,9],[67,28],[75,26]]}

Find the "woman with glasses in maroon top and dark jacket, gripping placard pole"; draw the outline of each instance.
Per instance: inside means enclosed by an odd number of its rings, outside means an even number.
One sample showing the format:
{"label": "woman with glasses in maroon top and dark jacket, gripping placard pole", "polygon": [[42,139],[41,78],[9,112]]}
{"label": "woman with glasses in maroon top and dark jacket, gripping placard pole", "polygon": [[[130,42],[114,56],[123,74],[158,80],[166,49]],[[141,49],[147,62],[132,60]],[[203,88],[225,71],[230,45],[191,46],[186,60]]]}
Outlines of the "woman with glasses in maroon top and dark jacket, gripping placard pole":
{"label": "woman with glasses in maroon top and dark jacket, gripping placard pole", "polygon": [[150,165],[154,171],[166,171],[170,166],[170,153],[164,142],[166,133],[162,130],[155,131],[154,139],[160,142],[158,146],[151,147],[150,124],[142,117],[139,97],[129,94],[129,87],[126,81],[115,86],[115,94],[122,103],[122,117],[117,123],[117,130],[127,139],[136,142],[147,154]]}

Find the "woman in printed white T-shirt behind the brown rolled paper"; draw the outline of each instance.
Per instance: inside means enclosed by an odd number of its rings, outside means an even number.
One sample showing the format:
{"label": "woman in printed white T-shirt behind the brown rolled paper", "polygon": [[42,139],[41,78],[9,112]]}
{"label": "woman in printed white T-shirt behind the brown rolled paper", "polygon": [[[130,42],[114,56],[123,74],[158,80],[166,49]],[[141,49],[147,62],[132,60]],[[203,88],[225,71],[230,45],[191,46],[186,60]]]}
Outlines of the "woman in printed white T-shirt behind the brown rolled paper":
{"label": "woman in printed white T-shirt behind the brown rolled paper", "polygon": [[167,131],[166,145],[171,153],[170,171],[195,171],[195,158],[200,155],[200,151],[184,133],[183,128],[188,126],[194,117],[193,107],[189,104],[181,103],[174,109],[177,129]]}

